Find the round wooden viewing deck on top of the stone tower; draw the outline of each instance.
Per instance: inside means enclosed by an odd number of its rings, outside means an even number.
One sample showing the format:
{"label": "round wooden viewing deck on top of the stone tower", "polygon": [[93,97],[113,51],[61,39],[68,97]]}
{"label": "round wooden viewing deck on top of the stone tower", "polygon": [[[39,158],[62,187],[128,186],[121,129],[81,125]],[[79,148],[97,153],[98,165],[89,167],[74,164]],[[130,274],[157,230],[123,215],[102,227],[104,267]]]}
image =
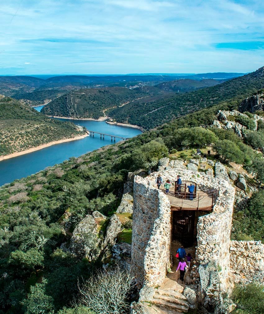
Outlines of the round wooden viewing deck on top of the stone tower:
{"label": "round wooden viewing deck on top of the stone tower", "polygon": [[[165,193],[165,189],[162,189]],[[193,200],[177,198],[174,194],[174,188],[169,189],[166,194],[171,204],[171,210],[211,210],[212,193],[206,193],[197,189],[197,196]]]}

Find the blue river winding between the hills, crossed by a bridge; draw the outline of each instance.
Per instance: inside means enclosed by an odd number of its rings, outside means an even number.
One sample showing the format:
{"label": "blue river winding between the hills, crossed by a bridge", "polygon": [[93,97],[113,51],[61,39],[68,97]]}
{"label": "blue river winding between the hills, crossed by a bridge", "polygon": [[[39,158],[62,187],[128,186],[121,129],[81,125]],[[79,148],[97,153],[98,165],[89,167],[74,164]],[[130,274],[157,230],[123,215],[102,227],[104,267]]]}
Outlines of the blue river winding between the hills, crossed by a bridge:
{"label": "blue river winding between the hills, crossed by a bridge", "polygon": [[[39,106],[35,109],[40,111],[41,107],[42,106]],[[136,128],[107,124],[104,121],[59,120],[71,121],[77,125],[85,126],[88,130],[113,134],[125,138],[131,138],[141,133],[141,131]],[[116,138],[115,143],[120,140],[120,138]],[[78,157],[111,143],[114,143],[114,141],[111,142],[109,136],[100,139],[100,135],[95,134],[94,137],[87,136],[79,140],[52,145],[29,154],[2,160],[0,161],[0,186],[12,182],[15,179],[29,176],[43,170],[47,166],[59,164],[70,157]]]}

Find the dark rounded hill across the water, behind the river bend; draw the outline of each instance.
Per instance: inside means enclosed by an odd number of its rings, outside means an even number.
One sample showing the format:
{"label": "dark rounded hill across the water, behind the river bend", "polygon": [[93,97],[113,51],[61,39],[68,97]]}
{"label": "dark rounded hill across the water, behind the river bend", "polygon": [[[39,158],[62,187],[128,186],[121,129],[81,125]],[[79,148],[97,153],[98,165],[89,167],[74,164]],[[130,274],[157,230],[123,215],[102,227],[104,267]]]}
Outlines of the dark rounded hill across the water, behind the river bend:
{"label": "dark rounded hill across the water, behind the river bend", "polygon": [[124,87],[79,89],[52,100],[41,112],[47,116],[98,119],[105,116],[105,109],[148,96],[146,92]]}

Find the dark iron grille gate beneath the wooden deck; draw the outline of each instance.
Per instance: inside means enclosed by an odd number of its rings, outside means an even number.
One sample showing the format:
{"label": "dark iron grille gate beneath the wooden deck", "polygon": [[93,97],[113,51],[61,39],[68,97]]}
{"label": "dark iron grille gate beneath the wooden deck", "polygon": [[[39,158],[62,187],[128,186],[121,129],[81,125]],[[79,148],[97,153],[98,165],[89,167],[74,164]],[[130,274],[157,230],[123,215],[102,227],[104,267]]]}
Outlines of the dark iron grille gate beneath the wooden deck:
{"label": "dark iron grille gate beneath the wooden deck", "polygon": [[184,246],[192,246],[194,236],[194,210],[173,211],[172,239]]}

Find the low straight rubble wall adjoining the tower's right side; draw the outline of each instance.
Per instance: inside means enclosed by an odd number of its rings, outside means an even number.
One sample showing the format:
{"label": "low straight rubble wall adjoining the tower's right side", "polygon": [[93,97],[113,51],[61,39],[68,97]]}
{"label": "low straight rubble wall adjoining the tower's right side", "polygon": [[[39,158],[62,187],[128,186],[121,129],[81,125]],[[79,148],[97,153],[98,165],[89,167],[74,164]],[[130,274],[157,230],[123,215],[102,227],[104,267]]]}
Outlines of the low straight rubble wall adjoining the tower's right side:
{"label": "low straight rubble wall adjoining the tower's right side", "polygon": [[231,241],[230,244],[230,272],[234,282],[264,282],[264,245],[261,241]]}

